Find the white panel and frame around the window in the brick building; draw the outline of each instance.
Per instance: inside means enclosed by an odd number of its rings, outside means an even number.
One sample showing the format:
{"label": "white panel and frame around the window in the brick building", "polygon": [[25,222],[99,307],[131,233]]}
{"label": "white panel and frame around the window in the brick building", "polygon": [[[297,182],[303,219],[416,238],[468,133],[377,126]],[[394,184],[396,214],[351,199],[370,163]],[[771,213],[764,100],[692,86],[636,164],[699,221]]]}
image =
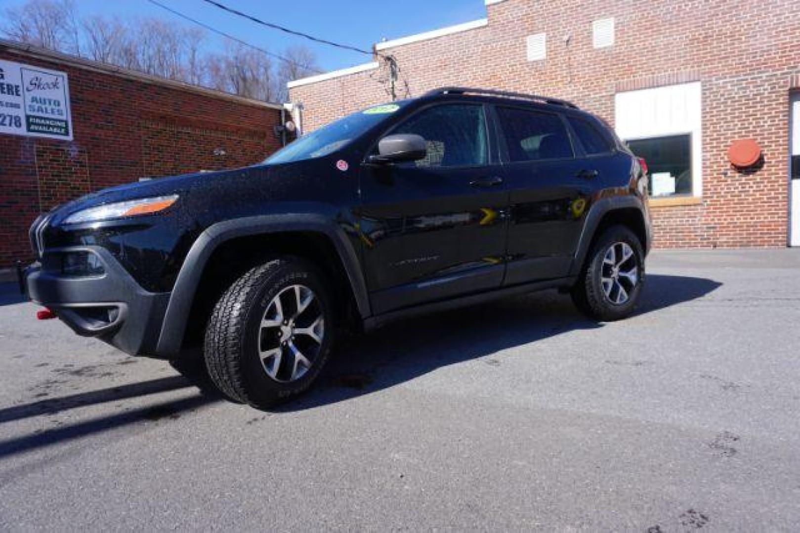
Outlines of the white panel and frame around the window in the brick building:
{"label": "white panel and frame around the window in the brick building", "polygon": [[614,95],[614,129],[622,141],[690,136],[691,197],[702,197],[702,86],[700,82]]}

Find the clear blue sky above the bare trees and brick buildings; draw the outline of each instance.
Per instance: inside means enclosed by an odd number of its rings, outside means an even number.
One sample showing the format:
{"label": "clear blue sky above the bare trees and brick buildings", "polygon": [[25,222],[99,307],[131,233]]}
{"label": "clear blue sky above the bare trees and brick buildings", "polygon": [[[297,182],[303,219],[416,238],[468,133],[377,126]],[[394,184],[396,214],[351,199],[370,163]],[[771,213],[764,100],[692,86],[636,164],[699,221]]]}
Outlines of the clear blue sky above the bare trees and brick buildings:
{"label": "clear blue sky above the bare trees and brick buildings", "polygon": [[[286,46],[303,43],[317,55],[322,70],[335,70],[370,61],[365,55],[338,50],[294,38],[226,14],[201,0],[160,0],[160,2],[219,30],[266,50],[279,53]],[[370,50],[382,37],[389,39],[435,30],[460,22],[486,17],[483,0],[220,0],[235,9],[253,14],[268,22],[288,26],[330,41],[343,42]],[[0,18],[6,7],[20,6],[24,0],[0,0]],[[81,14],[117,15],[126,19],[156,16],[184,23],[182,19],[153,6],[145,0],[76,0]],[[185,22],[190,24],[189,22]],[[222,38],[208,34],[209,46],[218,47]]]}

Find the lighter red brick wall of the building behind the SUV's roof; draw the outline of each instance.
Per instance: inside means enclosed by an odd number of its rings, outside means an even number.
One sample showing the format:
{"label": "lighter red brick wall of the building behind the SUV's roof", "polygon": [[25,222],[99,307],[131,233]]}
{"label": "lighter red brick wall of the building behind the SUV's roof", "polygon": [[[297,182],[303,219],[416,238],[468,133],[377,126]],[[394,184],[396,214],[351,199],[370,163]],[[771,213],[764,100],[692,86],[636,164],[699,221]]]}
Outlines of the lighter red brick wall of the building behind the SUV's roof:
{"label": "lighter red brick wall of the building behind the SUV's roof", "polygon": [[[699,81],[702,199],[655,206],[655,244],[786,245],[789,94],[800,73],[800,2],[505,0],[486,9],[486,26],[382,50],[398,60],[400,96],[446,85],[542,93],[613,124],[617,91]],[[591,23],[606,17],[615,18],[614,46],[594,49]],[[528,62],[526,36],[541,32],[547,57]],[[290,99],[302,102],[306,130],[314,129],[388,100],[387,78],[382,62],[378,69],[296,86]],[[726,150],[738,138],[762,146],[757,171],[730,168]]]}

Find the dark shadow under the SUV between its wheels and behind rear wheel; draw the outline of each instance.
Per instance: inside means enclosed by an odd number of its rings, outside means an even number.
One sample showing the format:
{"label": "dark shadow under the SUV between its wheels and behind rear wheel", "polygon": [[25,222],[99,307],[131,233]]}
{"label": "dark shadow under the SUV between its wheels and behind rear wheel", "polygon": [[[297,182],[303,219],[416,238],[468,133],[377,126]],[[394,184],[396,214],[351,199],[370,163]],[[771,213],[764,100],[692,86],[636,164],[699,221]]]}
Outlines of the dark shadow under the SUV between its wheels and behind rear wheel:
{"label": "dark shadow under the SUV between its wheels and behind rear wheel", "polygon": [[[634,316],[696,300],[721,285],[704,278],[649,274]],[[506,348],[603,326],[580,314],[570,296],[555,291],[388,324],[364,336],[340,339],[318,384],[305,396],[274,411],[334,404],[468,360],[502,364],[493,356]]]}

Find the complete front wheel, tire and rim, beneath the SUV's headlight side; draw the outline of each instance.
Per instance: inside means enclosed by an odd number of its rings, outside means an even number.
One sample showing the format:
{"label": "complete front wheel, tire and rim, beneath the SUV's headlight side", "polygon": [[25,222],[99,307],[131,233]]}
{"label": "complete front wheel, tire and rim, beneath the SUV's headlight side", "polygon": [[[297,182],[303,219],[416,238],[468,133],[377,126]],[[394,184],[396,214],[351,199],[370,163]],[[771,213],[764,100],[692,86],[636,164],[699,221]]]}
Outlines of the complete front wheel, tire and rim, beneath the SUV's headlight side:
{"label": "complete front wheel, tire and rim, beneath the SUV's headlight side", "polygon": [[302,259],[250,269],[211,314],[203,350],[211,380],[257,408],[304,392],[330,355],[331,309],[322,274]]}

